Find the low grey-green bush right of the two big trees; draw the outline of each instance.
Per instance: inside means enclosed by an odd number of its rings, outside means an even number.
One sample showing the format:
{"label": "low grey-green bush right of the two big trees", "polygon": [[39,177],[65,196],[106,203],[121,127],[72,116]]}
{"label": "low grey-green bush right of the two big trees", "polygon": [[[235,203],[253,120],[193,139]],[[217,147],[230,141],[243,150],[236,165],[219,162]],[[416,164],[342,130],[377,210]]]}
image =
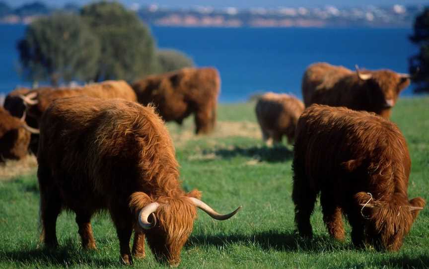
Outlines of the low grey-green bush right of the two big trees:
{"label": "low grey-green bush right of the two big trees", "polygon": [[182,52],[176,50],[158,50],[156,52],[159,72],[169,72],[183,67],[193,67],[194,62]]}

